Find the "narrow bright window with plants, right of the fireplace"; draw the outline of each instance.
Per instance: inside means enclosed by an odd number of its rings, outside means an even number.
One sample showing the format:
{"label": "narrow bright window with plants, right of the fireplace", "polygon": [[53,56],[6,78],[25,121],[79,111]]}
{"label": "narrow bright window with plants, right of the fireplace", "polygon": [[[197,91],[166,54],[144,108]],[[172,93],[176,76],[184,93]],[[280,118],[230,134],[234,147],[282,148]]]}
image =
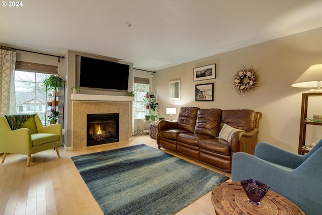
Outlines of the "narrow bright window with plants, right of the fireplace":
{"label": "narrow bright window with plants, right of the fireplace", "polygon": [[145,95],[146,92],[148,92],[149,85],[148,84],[139,84],[134,83],[133,85],[133,91],[135,94],[135,100],[133,102],[133,109],[134,109],[134,119],[143,119],[144,113],[146,111],[145,109]]}

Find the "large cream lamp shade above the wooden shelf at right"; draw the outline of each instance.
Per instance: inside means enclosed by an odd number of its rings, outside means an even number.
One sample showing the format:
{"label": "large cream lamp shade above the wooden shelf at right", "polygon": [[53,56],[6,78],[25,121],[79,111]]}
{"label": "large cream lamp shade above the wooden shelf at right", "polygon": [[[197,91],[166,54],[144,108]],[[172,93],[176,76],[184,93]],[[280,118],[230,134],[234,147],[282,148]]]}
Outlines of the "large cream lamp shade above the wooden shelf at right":
{"label": "large cream lamp shade above the wooden shelf at right", "polygon": [[306,69],[306,71],[291,86],[318,88],[320,82],[322,82],[322,64],[315,64]]}

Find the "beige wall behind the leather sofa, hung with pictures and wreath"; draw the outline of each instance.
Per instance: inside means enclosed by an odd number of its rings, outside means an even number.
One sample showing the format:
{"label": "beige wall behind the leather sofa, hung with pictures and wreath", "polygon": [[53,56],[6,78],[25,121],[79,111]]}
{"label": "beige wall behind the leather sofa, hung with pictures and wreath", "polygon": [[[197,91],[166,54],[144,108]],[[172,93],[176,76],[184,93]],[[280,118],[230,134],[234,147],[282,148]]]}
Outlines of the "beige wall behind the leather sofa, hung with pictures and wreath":
{"label": "beige wall behind the leather sofa, hung with pictures and wreath", "polygon": [[[297,153],[301,94],[309,89],[293,88],[291,84],[310,65],[322,63],[321,38],[322,28],[319,28],[158,70],[153,77],[153,86],[160,114],[167,116],[167,107],[177,107],[178,113],[181,106],[253,109],[263,114],[259,140]],[[193,68],[212,63],[216,63],[217,78],[194,82]],[[238,95],[232,77],[239,65],[257,68],[261,87]],[[177,78],[181,79],[181,100],[170,100],[169,81]],[[195,102],[195,85],[203,83],[214,83],[213,102]],[[317,102],[312,112],[322,113],[321,103],[322,100]],[[315,126],[308,130],[307,142],[322,138],[322,133],[316,129]]]}

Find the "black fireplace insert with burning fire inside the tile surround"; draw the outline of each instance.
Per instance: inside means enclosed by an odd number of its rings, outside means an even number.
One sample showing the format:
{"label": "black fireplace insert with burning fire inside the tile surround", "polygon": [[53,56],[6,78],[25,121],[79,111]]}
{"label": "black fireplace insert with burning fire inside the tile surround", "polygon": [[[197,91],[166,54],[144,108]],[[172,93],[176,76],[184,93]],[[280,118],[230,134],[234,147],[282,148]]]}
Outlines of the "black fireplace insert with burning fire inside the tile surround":
{"label": "black fireplace insert with burning fire inside the tile surround", "polygon": [[87,146],[119,141],[119,114],[87,114]]}

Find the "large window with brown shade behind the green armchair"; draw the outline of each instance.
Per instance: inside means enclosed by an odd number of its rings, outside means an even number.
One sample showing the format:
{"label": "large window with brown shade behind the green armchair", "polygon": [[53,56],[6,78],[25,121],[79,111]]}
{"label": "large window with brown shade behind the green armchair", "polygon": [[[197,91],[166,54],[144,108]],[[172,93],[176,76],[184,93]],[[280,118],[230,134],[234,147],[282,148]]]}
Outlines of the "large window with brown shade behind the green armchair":
{"label": "large window with brown shade behind the green armchair", "polygon": [[[53,71],[55,71],[53,73]],[[45,124],[46,92],[43,81],[57,74],[57,66],[16,62],[15,91],[17,113],[37,113]]]}

